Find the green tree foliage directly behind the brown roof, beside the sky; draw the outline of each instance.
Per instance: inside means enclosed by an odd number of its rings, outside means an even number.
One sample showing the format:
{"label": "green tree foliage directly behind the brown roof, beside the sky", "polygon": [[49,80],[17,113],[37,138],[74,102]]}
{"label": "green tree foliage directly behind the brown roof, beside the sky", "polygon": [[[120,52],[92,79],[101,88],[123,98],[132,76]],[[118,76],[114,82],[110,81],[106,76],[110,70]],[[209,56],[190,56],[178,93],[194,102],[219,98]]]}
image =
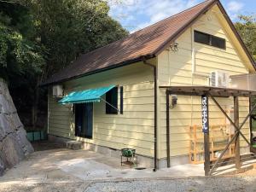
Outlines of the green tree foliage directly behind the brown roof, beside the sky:
{"label": "green tree foliage directly behind the brown roof, beside the sky", "polygon": [[128,35],[108,16],[108,4],[101,0],[38,0],[31,7],[38,37],[49,50],[45,77],[81,53]]}

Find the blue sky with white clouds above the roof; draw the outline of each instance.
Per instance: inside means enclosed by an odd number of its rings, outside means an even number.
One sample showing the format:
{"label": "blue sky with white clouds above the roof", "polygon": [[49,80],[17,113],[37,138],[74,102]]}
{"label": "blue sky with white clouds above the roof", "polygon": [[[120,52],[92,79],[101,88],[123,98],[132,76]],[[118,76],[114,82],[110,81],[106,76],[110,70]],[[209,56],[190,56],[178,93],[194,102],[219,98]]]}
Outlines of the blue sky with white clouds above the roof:
{"label": "blue sky with white clouds above the roof", "polygon": [[[136,32],[146,26],[189,9],[204,0],[108,0],[110,13],[129,32]],[[237,15],[256,14],[256,0],[220,0],[231,20]]]}

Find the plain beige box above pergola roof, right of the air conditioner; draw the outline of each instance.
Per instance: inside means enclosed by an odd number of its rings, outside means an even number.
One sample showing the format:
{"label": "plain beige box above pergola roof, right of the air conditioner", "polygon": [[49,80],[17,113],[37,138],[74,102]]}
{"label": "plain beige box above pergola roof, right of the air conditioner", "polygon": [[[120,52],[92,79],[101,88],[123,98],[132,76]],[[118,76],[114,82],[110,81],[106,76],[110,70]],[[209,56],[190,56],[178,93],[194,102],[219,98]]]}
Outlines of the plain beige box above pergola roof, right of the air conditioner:
{"label": "plain beige box above pergola roof, right of the air conditioner", "polygon": [[254,90],[256,91],[256,74],[241,74],[230,76],[230,88],[237,90]]}

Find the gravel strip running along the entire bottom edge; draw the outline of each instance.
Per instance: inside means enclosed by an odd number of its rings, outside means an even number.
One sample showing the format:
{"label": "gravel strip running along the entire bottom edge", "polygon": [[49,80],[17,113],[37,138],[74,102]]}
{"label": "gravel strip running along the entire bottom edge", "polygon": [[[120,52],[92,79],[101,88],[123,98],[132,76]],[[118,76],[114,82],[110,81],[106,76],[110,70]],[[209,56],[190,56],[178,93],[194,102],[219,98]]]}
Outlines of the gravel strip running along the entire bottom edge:
{"label": "gravel strip running along the entire bottom edge", "polygon": [[189,177],[78,183],[0,183],[1,192],[253,192],[256,177]]}

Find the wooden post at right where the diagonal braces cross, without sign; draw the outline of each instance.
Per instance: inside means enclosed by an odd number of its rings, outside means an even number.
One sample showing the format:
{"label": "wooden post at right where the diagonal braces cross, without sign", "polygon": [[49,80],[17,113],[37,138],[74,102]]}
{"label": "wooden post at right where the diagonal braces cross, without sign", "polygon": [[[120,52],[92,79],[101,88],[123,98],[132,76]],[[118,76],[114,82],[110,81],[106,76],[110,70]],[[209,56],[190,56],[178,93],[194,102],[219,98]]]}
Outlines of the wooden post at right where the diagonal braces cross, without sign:
{"label": "wooden post at right where the diagonal braces cross, without sign", "polygon": [[[239,127],[239,102],[238,96],[234,96],[234,122],[237,127]],[[237,132],[237,130],[236,130]],[[236,158],[236,169],[240,169],[241,160],[240,160],[240,137],[239,131],[235,140],[235,158]]]}

